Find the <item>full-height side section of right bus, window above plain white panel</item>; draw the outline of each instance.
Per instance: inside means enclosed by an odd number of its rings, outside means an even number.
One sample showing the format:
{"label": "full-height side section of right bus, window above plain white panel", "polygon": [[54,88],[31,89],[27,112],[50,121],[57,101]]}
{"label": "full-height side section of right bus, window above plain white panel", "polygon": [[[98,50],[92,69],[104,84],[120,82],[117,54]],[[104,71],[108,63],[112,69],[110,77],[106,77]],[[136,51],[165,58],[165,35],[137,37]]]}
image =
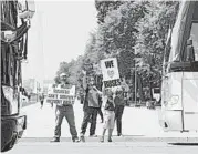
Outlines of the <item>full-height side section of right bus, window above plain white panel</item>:
{"label": "full-height side section of right bus, window above plain white panel", "polygon": [[192,3],[186,61],[190,63],[183,76],[184,130],[198,131],[198,1]]}

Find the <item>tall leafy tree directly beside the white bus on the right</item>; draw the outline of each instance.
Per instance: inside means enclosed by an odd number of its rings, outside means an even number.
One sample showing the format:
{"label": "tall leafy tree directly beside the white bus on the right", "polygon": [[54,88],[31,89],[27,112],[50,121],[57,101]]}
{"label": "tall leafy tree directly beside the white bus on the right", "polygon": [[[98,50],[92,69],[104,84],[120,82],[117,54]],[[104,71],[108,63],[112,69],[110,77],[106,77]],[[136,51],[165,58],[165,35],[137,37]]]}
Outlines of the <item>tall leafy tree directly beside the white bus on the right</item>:
{"label": "tall leafy tree directly beside the white bus on the right", "polygon": [[150,97],[152,86],[160,85],[166,35],[169,25],[175,22],[178,4],[179,2],[174,1],[152,1],[146,6],[148,13],[137,22],[139,32],[135,50],[142,57],[142,63],[137,65],[142,73],[146,73],[144,80],[149,83]]}

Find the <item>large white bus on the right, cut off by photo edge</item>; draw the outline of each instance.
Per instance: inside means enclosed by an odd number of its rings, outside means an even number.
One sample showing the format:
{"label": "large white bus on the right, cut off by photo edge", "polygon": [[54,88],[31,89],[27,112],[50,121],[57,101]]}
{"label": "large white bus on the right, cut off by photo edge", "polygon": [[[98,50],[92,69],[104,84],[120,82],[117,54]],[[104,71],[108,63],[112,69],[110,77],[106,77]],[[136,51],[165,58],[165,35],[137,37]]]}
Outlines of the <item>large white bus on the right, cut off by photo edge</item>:
{"label": "large white bus on the right, cut off by photo edge", "polygon": [[181,1],[163,64],[164,131],[198,131],[198,1]]}

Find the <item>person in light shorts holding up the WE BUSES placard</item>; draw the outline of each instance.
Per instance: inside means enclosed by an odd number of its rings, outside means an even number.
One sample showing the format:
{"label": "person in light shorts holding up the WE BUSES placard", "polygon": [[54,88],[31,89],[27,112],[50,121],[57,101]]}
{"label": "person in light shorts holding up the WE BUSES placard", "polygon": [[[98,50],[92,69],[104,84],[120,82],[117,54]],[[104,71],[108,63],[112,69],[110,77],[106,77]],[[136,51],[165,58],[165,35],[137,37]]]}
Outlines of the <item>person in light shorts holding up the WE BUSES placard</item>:
{"label": "person in light shorts holding up the WE BUSES placard", "polygon": [[106,92],[107,100],[106,104],[104,107],[104,125],[103,125],[103,133],[101,137],[101,142],[104,142],[104,136],[106,130],[108,130],[108,142],[112,142],[112,133],[114,130],[114,124],[115,124],[115,104],[113,100],[113,92],[112,90],[108,90]]}

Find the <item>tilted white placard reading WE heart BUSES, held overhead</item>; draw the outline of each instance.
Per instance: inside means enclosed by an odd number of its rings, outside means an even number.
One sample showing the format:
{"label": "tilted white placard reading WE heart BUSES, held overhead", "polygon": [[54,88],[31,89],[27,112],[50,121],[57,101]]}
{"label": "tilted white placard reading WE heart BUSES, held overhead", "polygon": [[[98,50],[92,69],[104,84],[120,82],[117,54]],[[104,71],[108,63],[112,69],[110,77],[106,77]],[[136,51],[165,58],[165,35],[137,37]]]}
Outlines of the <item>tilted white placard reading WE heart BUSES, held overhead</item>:
{"label": "tilted white placard reading WE heart BUSES, held overhead", "polygon": [[121,85],[116,58],[101,60],[101,69],[105,88],[114,88]]}

